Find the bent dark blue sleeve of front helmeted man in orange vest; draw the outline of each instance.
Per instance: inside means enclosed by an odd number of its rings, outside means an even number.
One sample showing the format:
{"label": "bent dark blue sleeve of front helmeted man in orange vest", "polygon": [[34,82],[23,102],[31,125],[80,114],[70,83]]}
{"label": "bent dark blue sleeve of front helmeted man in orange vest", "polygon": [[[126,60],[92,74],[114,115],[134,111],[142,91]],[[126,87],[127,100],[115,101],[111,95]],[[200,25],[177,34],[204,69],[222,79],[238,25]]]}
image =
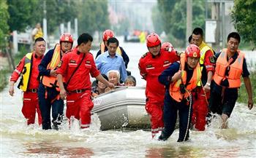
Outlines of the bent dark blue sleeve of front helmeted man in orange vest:
{"label": "bent dark blue sleeve of front helmeted man in orange vest", "polygon": [[158,81],[165,86],[169,86],[171,77],[178,72],[179,67],[180,64],[178,62],[172,63],[158,76]]}

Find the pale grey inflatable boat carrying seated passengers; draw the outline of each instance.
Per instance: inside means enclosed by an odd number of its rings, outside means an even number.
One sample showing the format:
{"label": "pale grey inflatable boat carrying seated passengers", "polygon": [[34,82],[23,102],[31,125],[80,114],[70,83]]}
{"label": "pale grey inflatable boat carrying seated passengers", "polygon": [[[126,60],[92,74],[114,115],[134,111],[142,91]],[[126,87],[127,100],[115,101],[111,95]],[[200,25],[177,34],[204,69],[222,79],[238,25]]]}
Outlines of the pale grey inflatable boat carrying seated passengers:
{"label": "pale grey inflatable boat carrying seated passengers", "polygon": [[149,129],[150,118],[145,110],[144,87],[118,87],[94,98],[92,114],[97,114],[101,130],[120,128]]}

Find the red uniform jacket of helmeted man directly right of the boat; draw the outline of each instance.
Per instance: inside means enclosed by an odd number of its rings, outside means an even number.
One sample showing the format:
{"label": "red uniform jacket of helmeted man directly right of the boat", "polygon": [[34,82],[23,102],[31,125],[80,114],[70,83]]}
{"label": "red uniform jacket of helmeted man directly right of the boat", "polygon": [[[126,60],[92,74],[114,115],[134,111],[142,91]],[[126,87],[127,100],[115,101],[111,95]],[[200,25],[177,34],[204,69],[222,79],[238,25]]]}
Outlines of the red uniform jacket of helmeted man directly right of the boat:
{"label": "red uniform jacket of helmeted man directly right of the boat", "polygon": [[167,52],[162,49],[157,56],[153,56],[150,52],[147,52],[140,58],[140,75],[146,79],[147,98],[151,98],[153,102],[164,101],[165,86],[158,82],[158,76],[162,71],[168,68],[171,63],[178,60],[179,58],[176,52]]}

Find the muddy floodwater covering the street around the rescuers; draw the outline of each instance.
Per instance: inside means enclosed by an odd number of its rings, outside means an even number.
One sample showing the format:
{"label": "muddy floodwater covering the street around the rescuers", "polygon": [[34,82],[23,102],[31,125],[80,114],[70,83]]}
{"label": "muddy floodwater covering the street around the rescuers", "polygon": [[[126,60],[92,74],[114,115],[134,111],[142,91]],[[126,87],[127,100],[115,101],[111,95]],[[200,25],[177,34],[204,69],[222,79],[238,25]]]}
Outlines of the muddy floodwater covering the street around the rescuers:
{"label": "muddy floodwater covering the street around the rescuers", "polygon": [[[129,71],[136,77],[138,86],[146,83],[140,79],[138,60],[147,51],[146,44],[121,43],[130,58]],[[92,51],[95,54],[95,51]],[[255,60],[255,52],[246,57]],[[253,67],[251,67],[253,68]],[[255,84],[255,83],[252,83]],[[256,108],[251,111],[245,104],[236,103],[230,116],[229,128],[219,129],[217,118],[204,132],[191,131],[187,143],[176,143],[178,130],[168,141],[151,139],[150,131],[108,130],[100,131],[97,116],[92,116],[91,127],[70,129],[64,122],[62,130],[41,130],[38,125],[26,125],[21,114],[20,90],[10,97],[8,87],[1,92],[0,107],[0,157],[255,157]],[[246,98],[244,98],[246,99]]]}

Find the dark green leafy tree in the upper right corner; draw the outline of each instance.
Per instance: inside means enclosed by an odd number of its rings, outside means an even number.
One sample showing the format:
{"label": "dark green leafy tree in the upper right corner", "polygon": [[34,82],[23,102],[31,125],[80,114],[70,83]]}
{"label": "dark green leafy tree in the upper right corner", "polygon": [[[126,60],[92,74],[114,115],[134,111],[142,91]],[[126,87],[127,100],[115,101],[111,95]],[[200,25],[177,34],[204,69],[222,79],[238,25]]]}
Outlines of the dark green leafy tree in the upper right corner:
{"label": "dark green leafy tree in the upper right corner", "polygon": [[256,44],[256,0],[235,0],[231,17],[245,42]]}

